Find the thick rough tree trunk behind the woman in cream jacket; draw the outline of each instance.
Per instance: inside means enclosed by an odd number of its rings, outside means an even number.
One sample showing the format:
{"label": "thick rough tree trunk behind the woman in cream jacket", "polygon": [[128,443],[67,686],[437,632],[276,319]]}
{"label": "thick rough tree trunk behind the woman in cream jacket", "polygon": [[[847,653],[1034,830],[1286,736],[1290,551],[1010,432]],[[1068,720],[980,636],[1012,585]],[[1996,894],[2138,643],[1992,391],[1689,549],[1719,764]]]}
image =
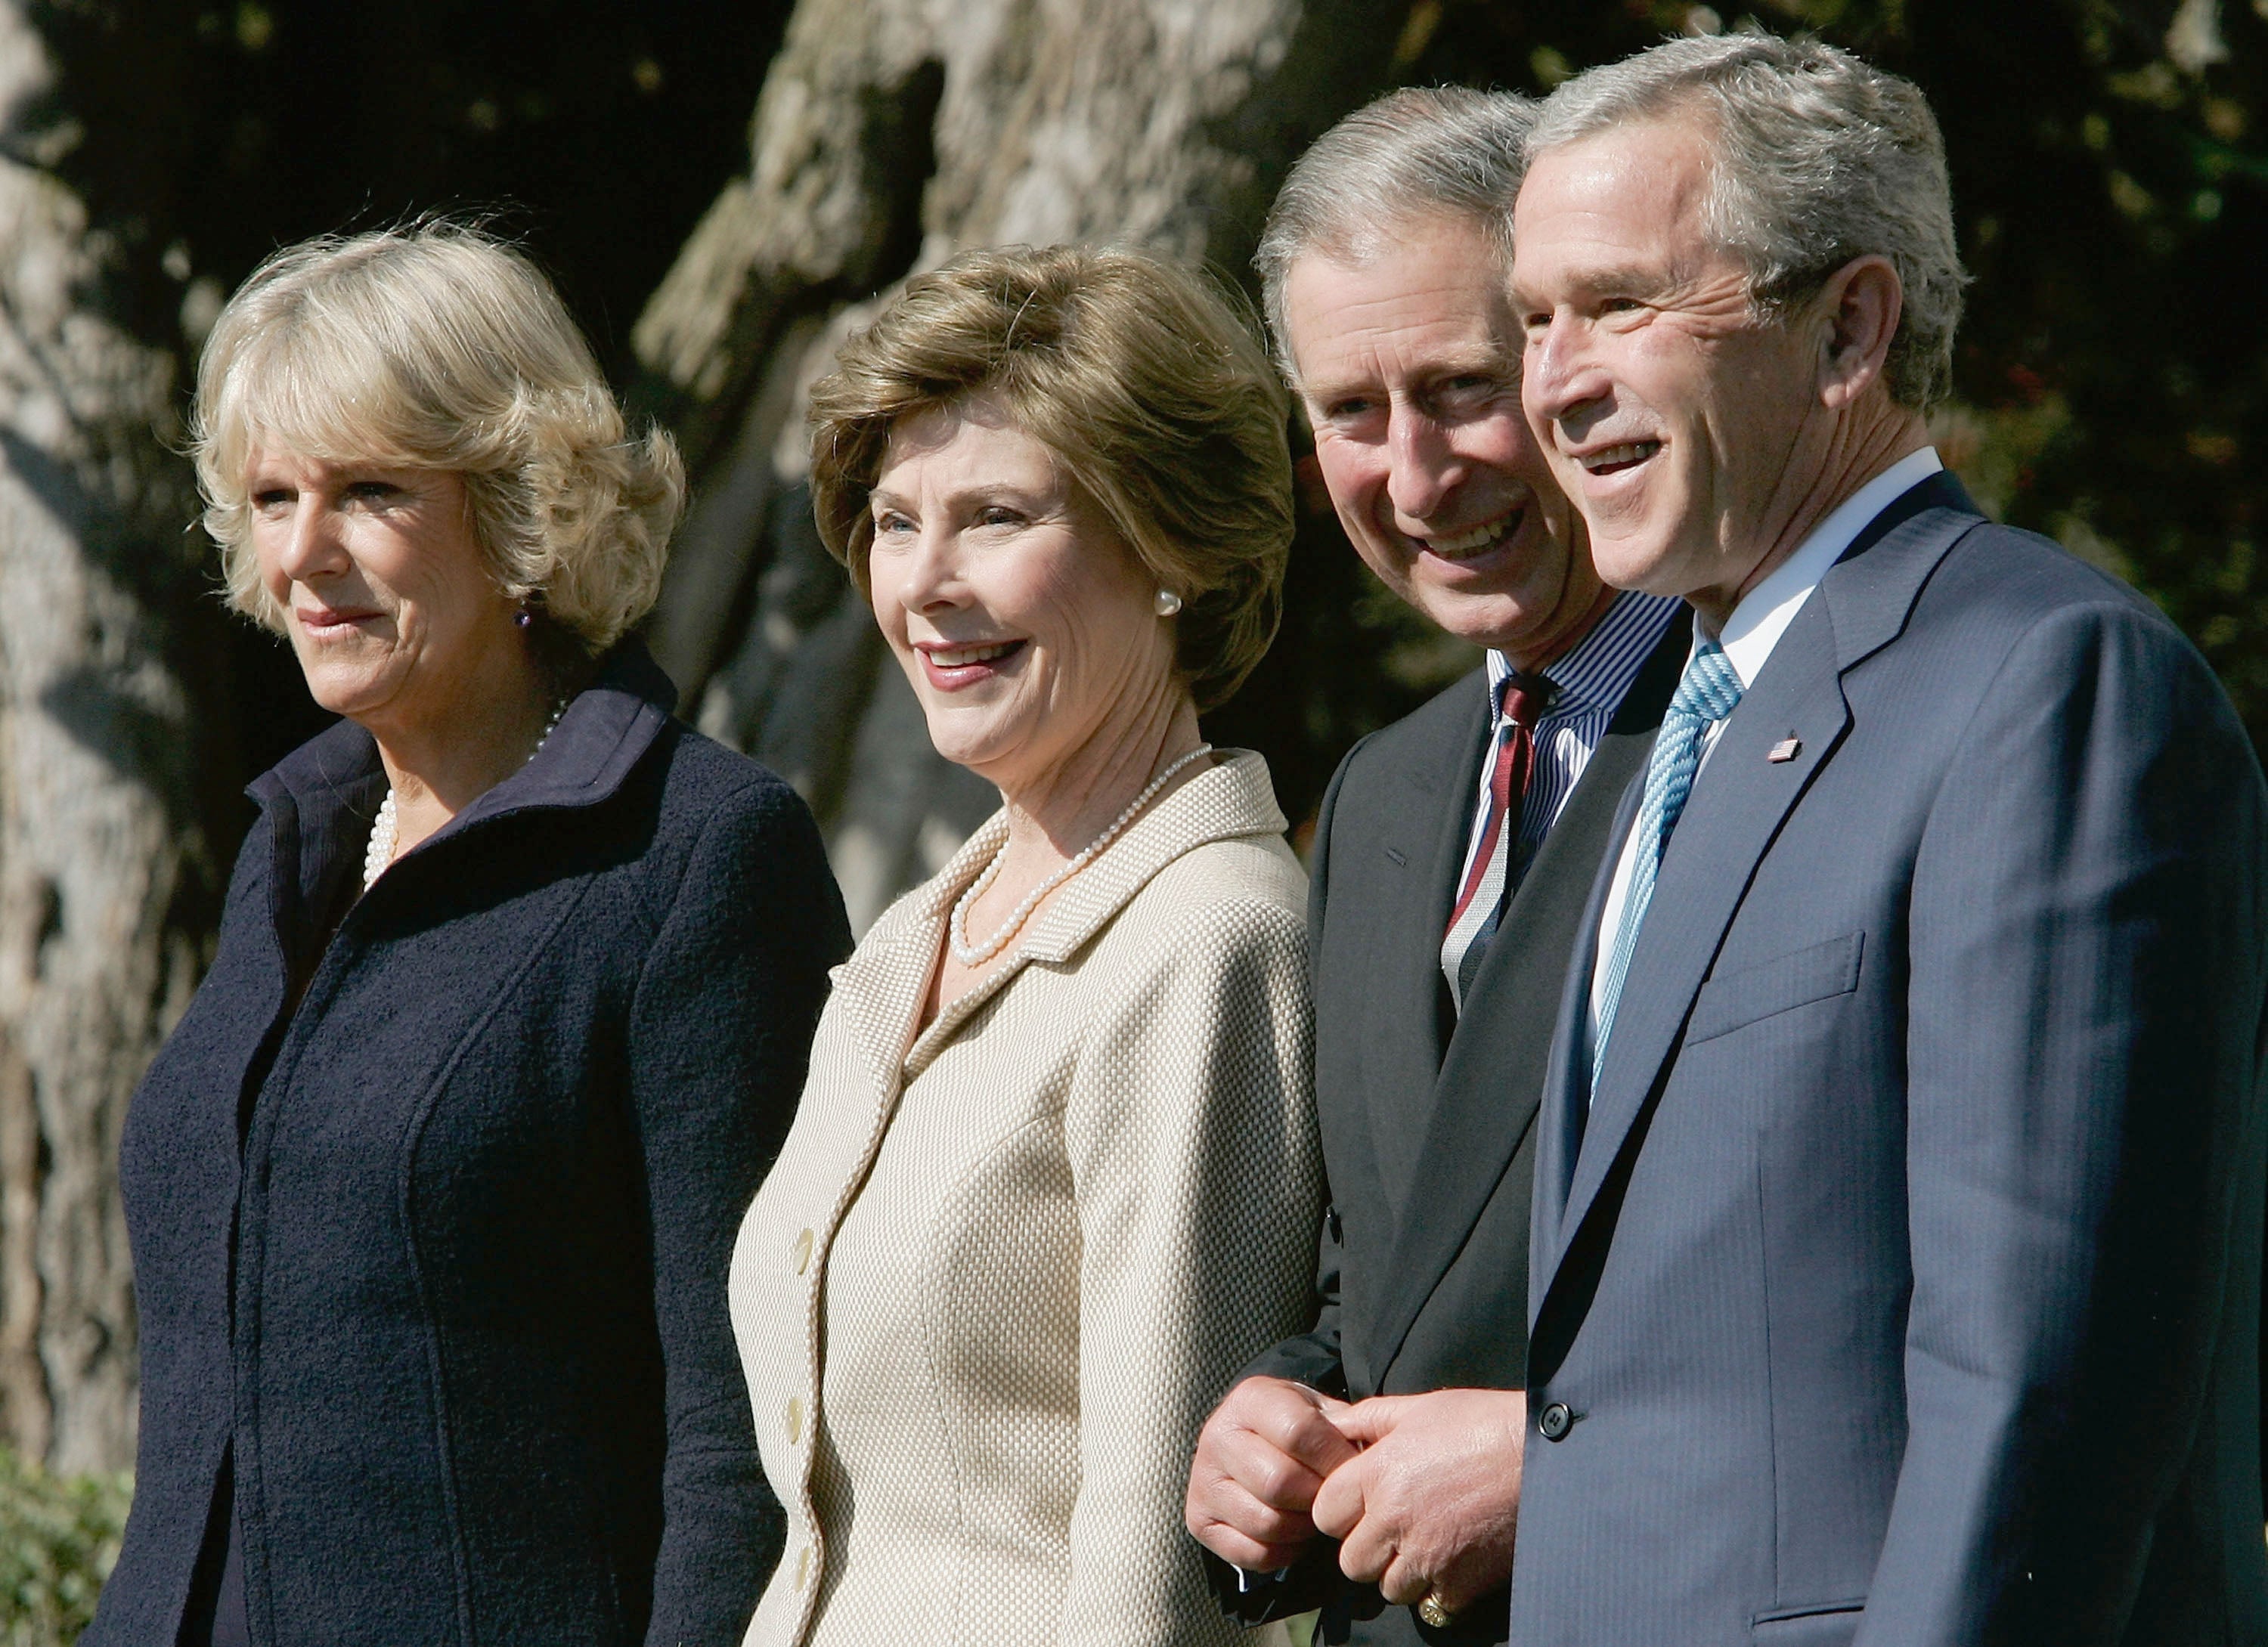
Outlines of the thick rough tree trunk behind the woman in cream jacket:
{"label": "thick rough tree trunk behind the woman in cream jacket", "polygon": [[1388,79],[1408,11],[796,7],[751,170],[635,331],[642,397],[685,440],[701,499],[653,640],[701,726],[812,799],[857,926],[996,796],[934,755],[810,529],[803,388],[880,293],[968,245],[1134,243],[1241,277],[1284,166]]}

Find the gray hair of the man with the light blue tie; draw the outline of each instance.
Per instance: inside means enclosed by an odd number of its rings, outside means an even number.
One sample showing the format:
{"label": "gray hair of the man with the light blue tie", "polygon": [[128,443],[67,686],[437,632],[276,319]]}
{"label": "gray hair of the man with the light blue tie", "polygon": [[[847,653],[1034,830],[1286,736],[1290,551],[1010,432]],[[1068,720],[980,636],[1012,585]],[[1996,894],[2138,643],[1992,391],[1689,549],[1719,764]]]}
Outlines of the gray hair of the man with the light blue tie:
{"label": "gray hair of the man with the light blue tie", "polygon": [[1969,274],[1946,143],[1921,88],[1833,45],[1760,29],[1662,41],[1554,91],[1529,161],[1681,113],[1712,127],[1706,229],[1749,265],[1755,313],[1785,318],[1851,259],[1889,259],[1905,288],[1889,392],[1914,411],[1944,399]]}

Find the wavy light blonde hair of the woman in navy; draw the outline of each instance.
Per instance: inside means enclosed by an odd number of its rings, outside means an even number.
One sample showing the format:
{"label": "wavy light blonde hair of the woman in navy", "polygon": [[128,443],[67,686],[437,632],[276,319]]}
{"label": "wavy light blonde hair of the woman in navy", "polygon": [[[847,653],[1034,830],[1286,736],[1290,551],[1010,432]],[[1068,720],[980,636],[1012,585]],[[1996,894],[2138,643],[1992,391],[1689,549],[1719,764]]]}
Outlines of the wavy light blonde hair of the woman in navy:
{"label": "wavy light blonde hair of the woman in navy", "polygon": [[485,229],[318,236],[261,263],[197,363],[191,454],[229,603],[284,628],[252,551],[252,451],[463,479],[490,574],[603,651],[660,592],[685,467],[633,436],[558,290]]}

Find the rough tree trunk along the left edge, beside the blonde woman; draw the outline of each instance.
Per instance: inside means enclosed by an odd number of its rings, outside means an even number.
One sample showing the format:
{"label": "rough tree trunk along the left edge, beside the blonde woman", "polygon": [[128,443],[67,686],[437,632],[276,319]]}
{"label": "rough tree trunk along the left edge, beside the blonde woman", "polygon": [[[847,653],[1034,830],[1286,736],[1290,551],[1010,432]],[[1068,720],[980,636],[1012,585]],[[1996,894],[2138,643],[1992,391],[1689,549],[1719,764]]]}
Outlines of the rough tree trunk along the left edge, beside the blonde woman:
{"label": "rough tree trunk along the left edge, beside the blonde woman", "polygon": [[195,601],[172,356],[116,320],[120,250],[59,175],[41,9],[0,0],[0,1422],[68,1470],[134,1456],[127,1096],[202,962]]}

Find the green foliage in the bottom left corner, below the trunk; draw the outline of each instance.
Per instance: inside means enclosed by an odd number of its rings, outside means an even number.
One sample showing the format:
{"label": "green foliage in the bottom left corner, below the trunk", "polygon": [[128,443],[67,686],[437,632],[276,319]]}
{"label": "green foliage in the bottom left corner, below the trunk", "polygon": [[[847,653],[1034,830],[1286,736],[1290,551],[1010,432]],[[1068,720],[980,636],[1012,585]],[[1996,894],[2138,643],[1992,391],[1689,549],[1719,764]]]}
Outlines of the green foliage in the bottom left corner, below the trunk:
{"label": "green foliage in the bottom left corner, below the trunk", "polygon": [[66,1647],[127,1524],[129,1475],[50,1475],[0,1447],[0,1647]]}

